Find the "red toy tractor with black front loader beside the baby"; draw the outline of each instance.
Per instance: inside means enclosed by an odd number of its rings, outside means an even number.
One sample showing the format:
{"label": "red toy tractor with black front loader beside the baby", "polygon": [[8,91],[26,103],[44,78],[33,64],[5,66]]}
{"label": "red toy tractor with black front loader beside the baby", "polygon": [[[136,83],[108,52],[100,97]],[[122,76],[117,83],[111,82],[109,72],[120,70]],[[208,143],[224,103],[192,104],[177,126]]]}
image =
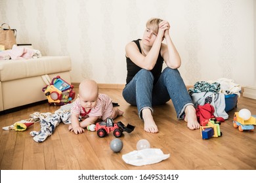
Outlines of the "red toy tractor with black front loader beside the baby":
{"label": "red toy tractor with black front loader beside the baby", "polygon": [[110,131],[113,131],[115,137],[121,137],[123,131],[131,133],[134,129],[133,125],[125,126],[122,122],[114,123],[112,118],[107,118],[106,122],[98,122],[95,126],[98,137],[105,137]]}

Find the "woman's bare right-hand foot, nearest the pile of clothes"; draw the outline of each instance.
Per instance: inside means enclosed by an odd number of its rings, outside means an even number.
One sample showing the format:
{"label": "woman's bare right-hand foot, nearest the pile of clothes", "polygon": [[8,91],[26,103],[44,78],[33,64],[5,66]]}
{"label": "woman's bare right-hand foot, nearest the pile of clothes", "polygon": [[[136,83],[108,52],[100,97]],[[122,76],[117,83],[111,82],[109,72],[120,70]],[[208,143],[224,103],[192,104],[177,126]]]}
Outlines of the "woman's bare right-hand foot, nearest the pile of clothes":
{"label": "woman's bare right-hand foot, nearest the pile of clothes", "polygon": [[189,129],[199,129],[200,124],[198,123],[198,118],[196,117],[196,109],[193,105],[188,105],[185,108],[185,122]]}

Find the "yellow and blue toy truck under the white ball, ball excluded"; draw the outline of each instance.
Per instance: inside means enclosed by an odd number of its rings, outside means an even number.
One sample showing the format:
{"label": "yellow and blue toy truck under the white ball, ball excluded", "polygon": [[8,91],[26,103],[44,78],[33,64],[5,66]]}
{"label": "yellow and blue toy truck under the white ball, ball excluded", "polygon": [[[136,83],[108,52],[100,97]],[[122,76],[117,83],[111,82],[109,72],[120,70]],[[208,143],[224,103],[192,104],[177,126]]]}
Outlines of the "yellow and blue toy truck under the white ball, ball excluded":
{"label": "yellow and blue toy truck under the white ball, ball excluded", "polygon": [[238,114],[239,112],[234,113],[234,120],[233,120],[233,126],[238,127],[239,131],[254,130],[254,125],[256,125],[256,115],[252,115],[249,120],[244,120],[241,118]]}

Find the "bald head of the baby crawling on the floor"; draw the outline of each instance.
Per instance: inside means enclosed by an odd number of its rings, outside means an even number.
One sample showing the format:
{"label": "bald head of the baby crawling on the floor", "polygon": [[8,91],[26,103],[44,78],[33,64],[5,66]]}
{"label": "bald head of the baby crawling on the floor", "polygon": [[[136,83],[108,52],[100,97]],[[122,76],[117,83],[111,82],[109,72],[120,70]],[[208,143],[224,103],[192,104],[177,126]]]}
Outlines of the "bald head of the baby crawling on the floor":
{"label": "bald head of the baby crawling on the floor", "polygon": [[82,107],[90,109],[96,106],[98,99],[98,85],[94,80],[85,79],[79,84],[80,103]]}

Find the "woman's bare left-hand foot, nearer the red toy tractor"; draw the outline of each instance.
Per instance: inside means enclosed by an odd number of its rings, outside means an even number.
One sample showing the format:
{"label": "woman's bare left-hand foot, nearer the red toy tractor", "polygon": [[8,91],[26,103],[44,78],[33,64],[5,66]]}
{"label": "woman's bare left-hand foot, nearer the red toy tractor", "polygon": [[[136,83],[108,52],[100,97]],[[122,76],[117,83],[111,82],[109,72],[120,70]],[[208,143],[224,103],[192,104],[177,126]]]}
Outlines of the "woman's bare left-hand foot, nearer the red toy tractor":
{"label": "woman's bare left-hand foot, nearer the red toy tractor", "polygon": [[142,110],[142,118],[144,120],[144,131],[149,133],[158,133],[158,127],[154,122],[150,108],[144,108]]}

